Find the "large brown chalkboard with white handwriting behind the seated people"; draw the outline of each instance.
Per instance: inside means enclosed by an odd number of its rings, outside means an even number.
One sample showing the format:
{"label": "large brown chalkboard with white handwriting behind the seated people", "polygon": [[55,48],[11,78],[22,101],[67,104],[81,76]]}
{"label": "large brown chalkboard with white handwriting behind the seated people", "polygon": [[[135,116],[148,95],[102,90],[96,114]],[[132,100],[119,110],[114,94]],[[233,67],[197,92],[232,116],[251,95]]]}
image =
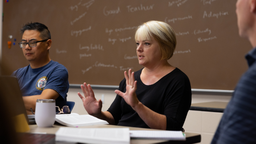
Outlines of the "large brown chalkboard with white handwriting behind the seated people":
{"label": "large brown chalkboard with white handwriting behind the seated people", "polygon": [[136,56],[136,27],[157,20],[174,28],[177,47],[169,63],[187,74],[192,88],[233,90],[247,69],[244,55],[251,49],[239,37],[235,3],[9,0],[3,4],[2,75],[29,64],[17,44],[22,38],[19,30],[24,23],[40,22],[52,35],[50,58],[68,69],[70,84],[119,85],[125,70],[143,68]]}

